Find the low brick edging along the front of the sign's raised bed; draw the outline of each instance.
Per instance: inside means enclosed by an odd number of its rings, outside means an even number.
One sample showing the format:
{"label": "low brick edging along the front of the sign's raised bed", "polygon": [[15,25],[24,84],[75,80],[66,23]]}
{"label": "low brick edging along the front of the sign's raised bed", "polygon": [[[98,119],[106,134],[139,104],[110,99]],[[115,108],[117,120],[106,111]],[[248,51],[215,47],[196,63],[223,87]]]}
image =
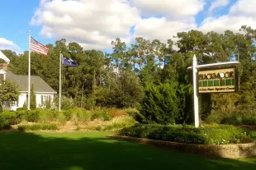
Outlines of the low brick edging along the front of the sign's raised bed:
{"label": "low brick edging along the front of the sign's raised bed", "polygon": [[178,151],[185,151],[192,154],[202,154],[207,157],[238,159],[256,156],[255,142],[235,145],[195,145],[162,140],[149,140],[145,138],[135,138],[129,136],[108,135],[107,137],[117,140],[136,141],[141,144],[156,145],[159,147]]}

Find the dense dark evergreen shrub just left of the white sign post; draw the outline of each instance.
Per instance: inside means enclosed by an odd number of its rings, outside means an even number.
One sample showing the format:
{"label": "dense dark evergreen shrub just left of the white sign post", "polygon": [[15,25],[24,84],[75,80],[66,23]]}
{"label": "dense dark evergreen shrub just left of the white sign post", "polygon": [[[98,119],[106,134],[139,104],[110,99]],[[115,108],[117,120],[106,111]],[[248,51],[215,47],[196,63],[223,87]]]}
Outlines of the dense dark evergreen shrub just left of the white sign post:
{"label": "dense dark evergreen shrub just left of the white sign post", "polygon": [[174,124],[179,114],[178,85],[167,83],[161,85],[149,84],[145,87],[145,97],[135,115],[138,122]]}

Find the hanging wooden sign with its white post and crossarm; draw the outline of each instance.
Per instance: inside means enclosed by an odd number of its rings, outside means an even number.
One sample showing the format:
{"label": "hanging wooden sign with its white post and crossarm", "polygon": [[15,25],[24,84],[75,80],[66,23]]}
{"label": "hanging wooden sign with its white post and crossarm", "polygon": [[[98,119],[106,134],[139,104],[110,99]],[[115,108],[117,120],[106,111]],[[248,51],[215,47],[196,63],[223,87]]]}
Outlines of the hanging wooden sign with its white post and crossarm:
{"label": "hanging wooden sign with its white post and crossarm", "polygon": [[[193,93],[194,93],[194,117],[195,126],[199,126],[198,93],[236,92],[238,91],[238,72],[234,65],[239,62],[220,62],[213,64],[197,65],[197,57],[194,54]],[[229,68],[198,71],[198,69],[230,66]],[[233,66],[233,67],[231,67]],[[198,78],[198,79],[197,79]],[[198,85],[199,84],[199,85]]]}

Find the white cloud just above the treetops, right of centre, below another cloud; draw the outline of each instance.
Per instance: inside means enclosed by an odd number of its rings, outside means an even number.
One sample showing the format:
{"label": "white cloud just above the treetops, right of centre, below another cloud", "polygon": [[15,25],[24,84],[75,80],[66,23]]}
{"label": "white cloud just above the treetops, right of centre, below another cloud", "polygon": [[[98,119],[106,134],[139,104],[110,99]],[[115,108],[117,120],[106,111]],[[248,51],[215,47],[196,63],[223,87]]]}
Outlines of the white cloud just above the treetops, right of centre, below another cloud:
{"label": "white cloud just above the treetops, right of centre, below another cloud", "polygon": [[145,39],[153,40],[159,39],[166,43],[167,39],[173,39],[173,35],[178,32],[197,29],[194,22],[181,21],[167,21],[165,17],[140,20],[135,26],[135,37],[143,37]]}

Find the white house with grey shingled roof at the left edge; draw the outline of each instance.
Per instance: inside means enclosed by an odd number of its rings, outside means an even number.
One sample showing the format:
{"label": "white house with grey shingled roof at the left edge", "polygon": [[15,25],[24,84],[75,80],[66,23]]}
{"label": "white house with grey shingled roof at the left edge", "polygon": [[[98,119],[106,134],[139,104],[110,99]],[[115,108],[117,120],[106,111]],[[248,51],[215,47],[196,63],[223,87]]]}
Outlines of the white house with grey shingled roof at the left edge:
{"label": "white house with grey shingled roof at the left edge", "polygon": [[[1,51],[0,51],[1,53]],[[0,85],[3,80],[12,80],[19,87],[20,95],[17,101],[10,103],[10,109],[16,110],[22,108],[23,104],[26,103],[28,97],[28,76],[26,75],[15,75],[12,71],[7,70],[7,63],[0,63]],[[36,93],[36,107],[44,107],[45,101],[49,100],[53,102],[54,95],[57,94],[45,80],[42,80],[40,76],[31,76],[31,86],[34,86]]]}

